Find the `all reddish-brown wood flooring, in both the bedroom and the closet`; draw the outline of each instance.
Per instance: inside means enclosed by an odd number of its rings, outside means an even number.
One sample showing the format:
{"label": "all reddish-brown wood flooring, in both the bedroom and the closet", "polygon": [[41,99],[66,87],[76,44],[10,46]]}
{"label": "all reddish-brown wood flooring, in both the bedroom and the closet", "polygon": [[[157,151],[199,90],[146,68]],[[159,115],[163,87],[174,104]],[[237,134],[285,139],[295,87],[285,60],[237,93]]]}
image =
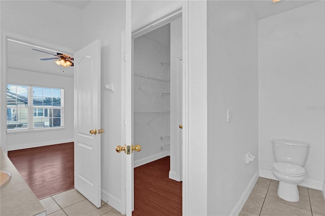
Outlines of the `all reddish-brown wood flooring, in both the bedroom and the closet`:
{"label": "all reddish-brown wood flooring, in both the bedroom and the closet", "polygon": [[[38,199],[74,188],[73,142],[9,151],[8,156]],[[168,178],[170,157],[134,169],[133,215],[182,215],[182,183]]]}

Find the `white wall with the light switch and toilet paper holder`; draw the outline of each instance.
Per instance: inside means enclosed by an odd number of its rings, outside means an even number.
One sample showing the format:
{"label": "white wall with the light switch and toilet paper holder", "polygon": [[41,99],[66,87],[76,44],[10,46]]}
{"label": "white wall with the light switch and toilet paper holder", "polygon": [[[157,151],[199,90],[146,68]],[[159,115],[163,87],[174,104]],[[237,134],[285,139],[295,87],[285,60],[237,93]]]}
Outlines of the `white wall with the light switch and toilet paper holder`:
{"label": "white wall with the light switch and toilet paper holder", "polygon": [[208,1],[208,215],[237,215],[257,180],[257,19],[247,3]]}

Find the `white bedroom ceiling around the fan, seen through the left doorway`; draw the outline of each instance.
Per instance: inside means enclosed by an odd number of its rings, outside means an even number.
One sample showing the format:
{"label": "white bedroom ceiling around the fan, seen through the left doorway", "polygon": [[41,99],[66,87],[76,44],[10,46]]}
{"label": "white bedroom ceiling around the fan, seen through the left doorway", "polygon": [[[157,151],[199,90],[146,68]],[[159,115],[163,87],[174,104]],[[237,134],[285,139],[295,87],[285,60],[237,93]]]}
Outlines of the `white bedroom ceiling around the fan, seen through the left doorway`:
{"label": "white bedroom ceiling around the fan, seen through the left doorway", "polygon": [[7,49],[7,66],[10,68],[35,71],[38,73],[46,73],[63,77],[73,77],[74,67],[58,66],[56,63],[54,63],[55,60],[40,60],[41,58],[52,58],[55,56],[32,49],[53,54],[56,54],[56,52],[12,41],[8,41]]}

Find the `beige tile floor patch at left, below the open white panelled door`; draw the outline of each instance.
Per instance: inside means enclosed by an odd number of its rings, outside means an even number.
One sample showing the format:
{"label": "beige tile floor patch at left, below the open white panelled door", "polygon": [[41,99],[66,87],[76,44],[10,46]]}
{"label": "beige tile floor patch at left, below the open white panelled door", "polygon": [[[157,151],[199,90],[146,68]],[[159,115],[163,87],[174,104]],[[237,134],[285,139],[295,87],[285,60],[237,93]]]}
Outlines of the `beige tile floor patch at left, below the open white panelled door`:
{"label": "beige tile floor patch at left, below the open white panelled door", "polygon": [[51,216],[121,216],[122,214],[112,206],[102,201],[102,207],[96,208],[76,189],[71,189],[44,199],[40,202],[46,209],[46,214]]}

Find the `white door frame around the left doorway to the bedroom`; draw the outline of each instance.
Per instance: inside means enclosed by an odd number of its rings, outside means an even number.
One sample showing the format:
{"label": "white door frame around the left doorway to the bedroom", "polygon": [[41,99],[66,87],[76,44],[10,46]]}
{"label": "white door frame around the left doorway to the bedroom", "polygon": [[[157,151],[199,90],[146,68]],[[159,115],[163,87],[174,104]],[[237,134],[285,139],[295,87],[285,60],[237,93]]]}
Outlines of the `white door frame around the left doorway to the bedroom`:
{"label": "white door frame around the left doorway to the bedroom", "polygon": [[7,143],[7,40],[13,39],[28,45],[34,45],[37,48],[48,49],[49,51],[62,52],[74,54],[75,51],[71,48],[53,44],[50,42],[42,41],[39,39],[31,38],[23,34],[1,30],[1,43],[0,43],[0,147],[8,154]]}

